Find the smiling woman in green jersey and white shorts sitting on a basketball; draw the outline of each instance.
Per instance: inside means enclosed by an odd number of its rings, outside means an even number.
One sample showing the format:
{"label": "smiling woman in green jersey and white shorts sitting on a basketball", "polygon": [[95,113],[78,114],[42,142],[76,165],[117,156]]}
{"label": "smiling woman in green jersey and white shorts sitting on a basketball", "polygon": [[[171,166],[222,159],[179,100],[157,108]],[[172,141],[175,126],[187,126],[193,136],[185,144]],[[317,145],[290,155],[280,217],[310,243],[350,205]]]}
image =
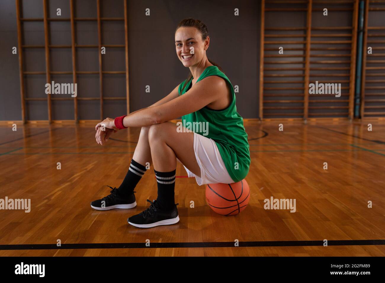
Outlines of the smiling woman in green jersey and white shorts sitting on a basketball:
{"label": "smiling woman in green jersey and white shorts sitting on a basketball", "polygon": [[[174,201],[177,159],[199,186],[229,184],[246,177],[250,152],[243,119],[236,111],[231,82],[206,56],[209,44],[204,23],[182,20],[175,31],[175,48],[179,60],[190,69],[188,78],[155,104],[96,125],[100,145],[119,129],[141,127],[141,133],[123,183],[110,187],[110,195],[93,201],[92,208],[135,207],[134,188],[146,172],[146,162],[154,164],[158,197],[154,202],[147,199],[150,207],[128,219],[141,228],[179,221]],[[168,122],[181,116],[182,126]]]}

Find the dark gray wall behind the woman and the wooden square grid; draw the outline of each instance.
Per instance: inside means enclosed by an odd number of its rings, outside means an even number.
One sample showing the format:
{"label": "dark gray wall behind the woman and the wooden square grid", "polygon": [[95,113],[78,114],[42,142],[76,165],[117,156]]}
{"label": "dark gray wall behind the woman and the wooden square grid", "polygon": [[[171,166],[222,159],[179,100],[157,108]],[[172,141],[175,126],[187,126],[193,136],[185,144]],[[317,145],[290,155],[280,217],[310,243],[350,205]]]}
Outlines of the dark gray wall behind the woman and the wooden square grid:
{"label": "dark gray wall behind the woman and the wooden square grid", "polygon": [[[68,0],[49,0],[49,17],[62,9],[69,17]],[[102,17],[123,17],[123,1],[102,0]],[[211,44],[208,57],[219,64],[233,85],[239,86],[237,109],[244,118],[258,117],[260,3],[253,0],[128,0],[129,78],[131,112],[156,102],[181,83],[188,74],[177,59],[174,30],[186,17],[202,20],[208,27]],[[150,16],[145,9],[150,8]],[[239,16],[234,16],[234,8]],[[0,120],[21,120],[20,80],[15,0],[0,1]],[[22,1],[22,17],[43,17],[42,0]],[[96,1],[75,1],[75,17],[96,17]],[[77,44],[97,44],[96,22],[76,23]],[[43,22],[23,23],[23,44],[44,45]],[[70,45],[70,23],[50,22],[50,44]],[[124,44],[123,22],[102,22],[102,44]],[[24,49],[24,70],[44,71],[44,49]],[[70,71],[71,49],[50,49],[52,71]],[[97,49],[77,49],[77,70],[97,71]],[[124,48],[107,48],[102,55],[103,70],[124,70]],[[72,75],[51,75],[55,82],[72,82]],[[99,96],[99,75],[77,76],[78,97]],[[45,75],[25,75],[25,96],[46,97]],[[104,96],[125,97],[125,75],[103,76]],[[145,87],[150,85],[151,92]],[[60,97],[60,95],[52,95]],[[99,119],[98,100],[79,100],[79,119]],[[104,116],[125,113],[125,100],[104,100]],[[27,120],[47,120],[46,101],[26,102]],[[52,101],[52,119],[74,119],[71,100]]]}

